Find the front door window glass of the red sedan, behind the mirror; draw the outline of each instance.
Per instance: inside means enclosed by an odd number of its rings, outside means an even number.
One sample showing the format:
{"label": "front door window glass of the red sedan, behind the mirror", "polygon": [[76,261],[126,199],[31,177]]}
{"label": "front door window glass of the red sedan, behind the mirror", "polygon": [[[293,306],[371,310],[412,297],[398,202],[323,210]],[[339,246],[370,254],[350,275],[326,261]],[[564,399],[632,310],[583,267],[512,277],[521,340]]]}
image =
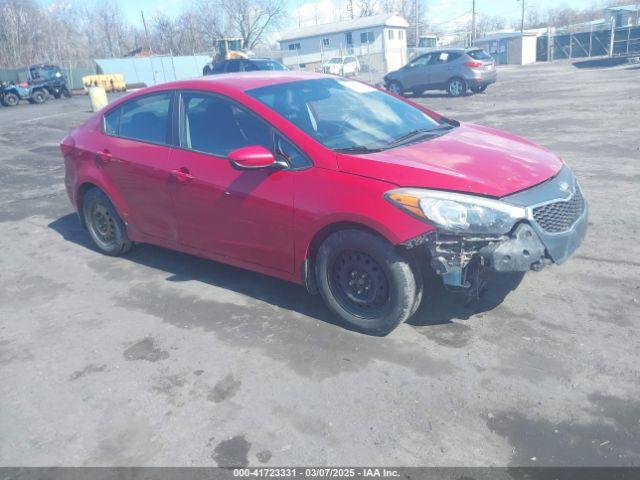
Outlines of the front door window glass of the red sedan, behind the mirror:
{"label": "front door window glass of the red sedan, behind the mirror", "polygon": [[182,94],[182,103],[183,147],[221,157],[251,145],[273,151],[271,127],[230,100],[186,92]]}

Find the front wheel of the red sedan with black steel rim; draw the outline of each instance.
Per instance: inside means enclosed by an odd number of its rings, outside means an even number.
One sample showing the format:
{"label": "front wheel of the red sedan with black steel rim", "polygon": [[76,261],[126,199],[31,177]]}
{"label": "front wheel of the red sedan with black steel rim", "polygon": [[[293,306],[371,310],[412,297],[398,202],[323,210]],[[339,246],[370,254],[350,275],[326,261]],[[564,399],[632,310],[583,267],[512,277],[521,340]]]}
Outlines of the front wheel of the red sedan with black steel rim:
{"label": "front wheel of the red sedan with black steel rim", "polygon": [[422,279],[411,262],[376,235],[341,230],[320,246],[316,282],[329,309],[349,326],[386,335],[419,305]]}

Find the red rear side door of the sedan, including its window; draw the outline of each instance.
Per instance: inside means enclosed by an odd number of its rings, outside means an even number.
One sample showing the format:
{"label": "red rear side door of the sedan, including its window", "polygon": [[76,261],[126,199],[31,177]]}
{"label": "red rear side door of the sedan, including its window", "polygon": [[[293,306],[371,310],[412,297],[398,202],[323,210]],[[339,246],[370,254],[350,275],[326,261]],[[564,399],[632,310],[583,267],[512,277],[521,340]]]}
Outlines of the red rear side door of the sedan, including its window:
{"label": "red rear side door of the sedan, including its window", "polygon": [[136,97],[107,113],[96,163],[129,208],[126,221],[146,235],[176,239],[168,189],[173,91]]}

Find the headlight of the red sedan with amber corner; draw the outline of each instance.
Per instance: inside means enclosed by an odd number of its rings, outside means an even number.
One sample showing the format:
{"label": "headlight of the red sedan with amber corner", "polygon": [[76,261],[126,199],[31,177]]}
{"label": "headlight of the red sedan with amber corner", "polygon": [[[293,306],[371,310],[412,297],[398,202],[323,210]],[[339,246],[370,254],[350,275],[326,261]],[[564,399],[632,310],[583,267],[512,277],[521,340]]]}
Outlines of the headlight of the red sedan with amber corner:
{"label": "headlight of the red sedan with amber corner", "polygon": [[462,193],[398,188],[385,194],[397,207],[451,233],[503,234],[526,218],[523,207]]}

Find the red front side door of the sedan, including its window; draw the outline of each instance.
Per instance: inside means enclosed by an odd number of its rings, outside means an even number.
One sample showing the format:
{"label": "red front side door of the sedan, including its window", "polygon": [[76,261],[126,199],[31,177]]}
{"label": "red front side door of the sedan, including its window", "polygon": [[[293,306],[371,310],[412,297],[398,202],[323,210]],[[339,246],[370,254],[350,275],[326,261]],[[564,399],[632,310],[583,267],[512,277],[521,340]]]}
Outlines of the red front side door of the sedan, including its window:
{"label": "red front side door of the sedan, including its window", "polygon": [[239,170],[238,148],[273,151],[273,131],[231,100],[181,95],[181,148],[171,154],[179,242],[205,252],[293,271],[293,181],[286,169]]}

